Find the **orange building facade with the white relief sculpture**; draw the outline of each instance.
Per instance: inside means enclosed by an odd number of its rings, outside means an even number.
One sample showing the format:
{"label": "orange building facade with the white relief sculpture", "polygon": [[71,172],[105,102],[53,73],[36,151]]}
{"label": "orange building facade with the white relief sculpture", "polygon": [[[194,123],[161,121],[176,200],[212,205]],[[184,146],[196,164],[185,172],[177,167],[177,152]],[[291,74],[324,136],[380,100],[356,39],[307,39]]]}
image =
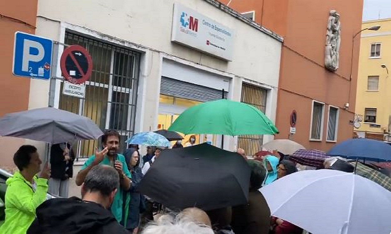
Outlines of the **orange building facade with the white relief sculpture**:
{"label": "orange building facade with the white relief sculpture", "polygon": [[[363,1],[221,2],[284,38],[276,113],[280,134],[276,138],[325,151],[352,138],[359,59],[359,44],[353,44],[353,36],[361,29]],[[334,21],[330,17],[336,14],[341,35],[339,67],[330,71],[325,66],[325,45],[328,25]],[[293,112],[296,124],[290,121]]]}

